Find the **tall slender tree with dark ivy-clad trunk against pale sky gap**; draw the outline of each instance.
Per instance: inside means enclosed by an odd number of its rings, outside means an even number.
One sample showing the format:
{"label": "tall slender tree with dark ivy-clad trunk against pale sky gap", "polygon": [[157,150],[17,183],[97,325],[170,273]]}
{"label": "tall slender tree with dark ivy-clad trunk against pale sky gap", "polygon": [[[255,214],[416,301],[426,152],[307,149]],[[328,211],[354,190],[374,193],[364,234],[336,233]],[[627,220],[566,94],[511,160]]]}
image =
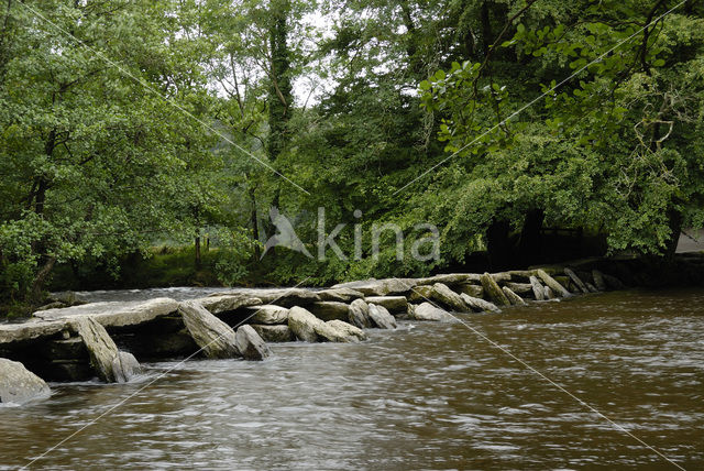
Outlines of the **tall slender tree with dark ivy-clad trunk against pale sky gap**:
{"label": "tall slender tree with dark ivy-clad trunk against pale sky gap", "polygon": [[[279,187],[290,185],[279,158],[288,122],[296,112],[292,84],[307,66],[311,28],[301,21],[315,3],[274,0],[206,2],[204,31],[213,45],[209,74],[221,95],[216,111],[228,136],[218,153],[226,160],[228,206],[238,226],[249,226],[253,261],[258,262],[260,215],[279,206]],[[249,154],[249,155],[248,155]],[[282,182],[283,180],[283,182]]]}

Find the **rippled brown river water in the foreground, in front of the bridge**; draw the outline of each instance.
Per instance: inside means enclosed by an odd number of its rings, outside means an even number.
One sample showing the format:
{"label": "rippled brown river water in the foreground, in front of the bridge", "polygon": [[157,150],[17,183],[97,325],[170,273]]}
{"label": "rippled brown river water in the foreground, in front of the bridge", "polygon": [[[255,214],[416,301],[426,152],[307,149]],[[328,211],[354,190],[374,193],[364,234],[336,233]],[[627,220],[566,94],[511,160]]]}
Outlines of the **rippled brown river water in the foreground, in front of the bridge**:
{"label": "rippled brown river water in the foreground, in front of the bridge", "polygon": [[[704,469],[704,291],[461,318],[667,459]],[[0,469],[678,469],[459,322],[273,352],[53,384],[50,399],[0,407]]]}

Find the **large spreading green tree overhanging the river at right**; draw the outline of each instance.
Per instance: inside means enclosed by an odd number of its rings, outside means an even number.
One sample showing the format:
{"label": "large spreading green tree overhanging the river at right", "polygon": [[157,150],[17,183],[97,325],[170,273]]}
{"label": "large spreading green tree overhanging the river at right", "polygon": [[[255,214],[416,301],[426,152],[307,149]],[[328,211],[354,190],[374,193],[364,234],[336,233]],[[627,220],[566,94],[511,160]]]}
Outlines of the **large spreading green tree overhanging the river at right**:
{"label": "large spreading green tree overhanging the river at right", "polygon": [[451,215],[442,219],[454,256],[466,253],[461,240],[496,221],[519,230],[531,210],[639,253],[672,253],[683,221],[701,224],[702,11],[666,15],[672,7],[517,2],[509,36],[484,59],[420,84],[455,155],[417,204]]}

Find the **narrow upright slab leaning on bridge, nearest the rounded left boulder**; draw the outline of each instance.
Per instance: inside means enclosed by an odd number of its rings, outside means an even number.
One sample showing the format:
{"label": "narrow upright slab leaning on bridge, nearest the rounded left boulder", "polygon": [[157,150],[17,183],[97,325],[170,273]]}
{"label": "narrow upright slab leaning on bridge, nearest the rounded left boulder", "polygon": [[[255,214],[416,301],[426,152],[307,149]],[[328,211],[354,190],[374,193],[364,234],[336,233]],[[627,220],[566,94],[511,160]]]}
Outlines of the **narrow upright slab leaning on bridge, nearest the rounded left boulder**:
{"label": "narrow upright slab leaning on bridge, nearest the rounded left boulder", "polygon": [[72,320],[72,326],[82,339],[90,357],[90,364],[98,377],[106,383],[118,382],[113,366],[120,365],[117,361],[120,352],[106,328],[92,317],[87,316],[76,317]]}

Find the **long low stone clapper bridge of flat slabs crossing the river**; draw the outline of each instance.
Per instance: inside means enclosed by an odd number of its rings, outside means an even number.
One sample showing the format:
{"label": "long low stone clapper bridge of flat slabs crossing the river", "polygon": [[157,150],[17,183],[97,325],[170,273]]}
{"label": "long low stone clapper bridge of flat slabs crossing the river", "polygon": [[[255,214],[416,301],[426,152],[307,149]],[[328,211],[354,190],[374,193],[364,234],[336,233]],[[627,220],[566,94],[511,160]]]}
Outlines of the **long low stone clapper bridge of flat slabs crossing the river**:
{"label": "long low stone clapper bridge of flat slabs crossing the river", "polygon": [[[26,370],[32,384],[94,377],[120,383],[141,372],[139,361],[194,354],[263,360],[270,355],[266,342],[359,342],[366,339],[364,329],[394,329],[397,319],[449,321],[449,311],[498,313],[526,299],[623,287],[598,270],[546,267],[369,280],[324,289],[237,288],[180,303],[162,297],[40,310],[25,322],[0,325],[0,402],[21,402],[23,394],[8,384],[19,381],[18,368]],[[3,374],[9,365],[14,373]]]}

